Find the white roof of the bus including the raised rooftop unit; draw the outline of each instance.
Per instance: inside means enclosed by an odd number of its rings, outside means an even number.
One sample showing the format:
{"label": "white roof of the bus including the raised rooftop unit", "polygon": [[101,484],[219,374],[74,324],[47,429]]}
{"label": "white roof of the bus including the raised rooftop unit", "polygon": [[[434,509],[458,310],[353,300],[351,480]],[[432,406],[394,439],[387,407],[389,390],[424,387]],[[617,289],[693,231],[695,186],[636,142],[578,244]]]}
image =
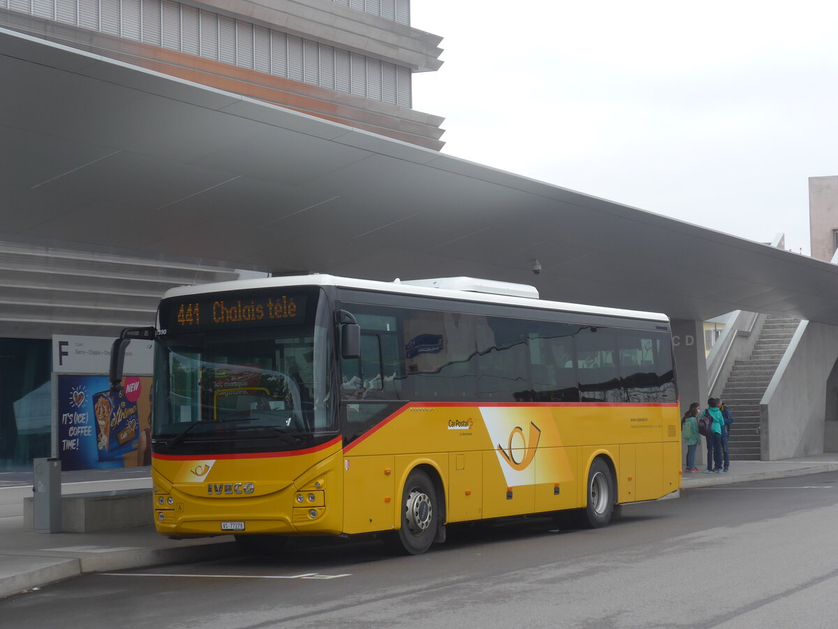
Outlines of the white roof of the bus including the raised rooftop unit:
{"label": "white roof of the bus including the raised rooftop unit", "polygon": [[[469,290],[455,290],[437,288],[440,286],[470,286]],[[504,285],[510,287],[507,294],[499,294],[504,291]],[[642,312],[639,310],[626,310],[617,308],[606,308],[603,306],[591,306],[583,304],[566,304],[559,301],[544,301],[538,298],[538,291],[526,284],[495,282],[494,280],[483,280],[477,278],[436,278],[423,280],[410,280],[402,282],[396,279],[393,282],[380,282],[370,279],[340,278],[325,273],[314,273],[312,275],[287,275],[274,278],[238,279],[230,282],[216,282],[207,284],[196,284],[193,286],[180,286],[175,289],[168,289],[163,294],[163,299],[170,297],[181,297],[184,295],[219,293],[232,290],[270,289],[289,286],[335,286],[346,289],[370,290],[378,293],[423,295],[442,299],[458,299],[462,301],[482,302],[484,304],[507,304],[522,306],[524,308],[561,310],[564,312],[577,312],[584,314],[603,314],[606,316],[623,317],[629,319],[642,319],[653,321],[669,321],[665,314],[654,312]],[[527,291],[526,289],[532,289]],[[499,292],[486,292],[497,290]],[[531,297],[522,297],[522,294],[532,294]]]}

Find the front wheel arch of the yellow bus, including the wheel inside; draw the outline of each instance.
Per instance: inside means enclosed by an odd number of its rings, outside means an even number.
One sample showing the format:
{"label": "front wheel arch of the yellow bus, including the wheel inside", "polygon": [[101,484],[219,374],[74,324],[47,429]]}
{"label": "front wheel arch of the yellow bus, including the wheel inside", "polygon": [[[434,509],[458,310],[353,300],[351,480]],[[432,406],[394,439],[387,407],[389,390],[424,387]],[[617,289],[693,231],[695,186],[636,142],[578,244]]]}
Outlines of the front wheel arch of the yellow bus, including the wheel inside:
{"label": "front wheel arch of the yellow bus, including the wheel inside", "polygon": [[416,465],[399,498],[400,526],[392,541],[406,554],[422,554],[445,540],[445,491],[432,465]]}

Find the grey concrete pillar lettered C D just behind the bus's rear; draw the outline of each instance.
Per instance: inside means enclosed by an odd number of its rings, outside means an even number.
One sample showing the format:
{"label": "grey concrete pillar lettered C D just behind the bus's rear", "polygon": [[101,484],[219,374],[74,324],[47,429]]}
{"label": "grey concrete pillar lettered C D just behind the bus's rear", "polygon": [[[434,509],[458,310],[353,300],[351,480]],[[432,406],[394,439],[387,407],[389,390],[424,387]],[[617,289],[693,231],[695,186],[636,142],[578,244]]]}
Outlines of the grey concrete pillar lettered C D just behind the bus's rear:
{"label": "grey concrete pillar lettered C D just behind the bus's rear", "polygon": [[[704,349],[704,321],[673,319],[670,324],[675,346],[680,414],[683,416],[693,402],[701,404],[701,408],[706,408],[707,396],[710,395]],[[702,438],[696,452],[696,465],[701,468],[705,463],[706,444]],[[684,460],[681,461],[681,465],[683,464]]]}

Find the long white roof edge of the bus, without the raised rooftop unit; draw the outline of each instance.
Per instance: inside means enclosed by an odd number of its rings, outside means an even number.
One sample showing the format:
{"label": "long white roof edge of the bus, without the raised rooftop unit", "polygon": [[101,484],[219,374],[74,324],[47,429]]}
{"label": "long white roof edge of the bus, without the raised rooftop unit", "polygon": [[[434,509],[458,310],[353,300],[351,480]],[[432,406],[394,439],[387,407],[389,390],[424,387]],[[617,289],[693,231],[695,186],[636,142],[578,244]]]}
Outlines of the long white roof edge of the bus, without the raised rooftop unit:
{"label": "long white roof edge of the bus, without the raised rooftop unit", "polygon": [[[166,293],[163,294],[163,299],[194,294],[218,293],[228,290],[271,289],[286,286],[337,286],[347,289],[371,290],[379,293],[422,295],[427,297],[442,297],[444,299],[482,302],[484,304],[507,304],[533,309],[563,310],[566,312],[603,314],[605,316],[624,317],[629,319],[669,322],[669,317],[666,316],[666,314],[657,312],[608,308],[605,306],[592,306],[586,304],[568,304],[561,301],[543,301],[541,299],[532,299],[530,297],[478,293],[466,290],[437,289],[409,282],[410,281],[382,282],[380,280],[372,279],[341,278],[339,276],[329,275],[328,273],[314,273],[313,275],[287,275],[274,278],[241,279],[232,280],[230,282],[180,286],[178,288],[168,289]],[[515,286],[515,284],[511,285]]]}

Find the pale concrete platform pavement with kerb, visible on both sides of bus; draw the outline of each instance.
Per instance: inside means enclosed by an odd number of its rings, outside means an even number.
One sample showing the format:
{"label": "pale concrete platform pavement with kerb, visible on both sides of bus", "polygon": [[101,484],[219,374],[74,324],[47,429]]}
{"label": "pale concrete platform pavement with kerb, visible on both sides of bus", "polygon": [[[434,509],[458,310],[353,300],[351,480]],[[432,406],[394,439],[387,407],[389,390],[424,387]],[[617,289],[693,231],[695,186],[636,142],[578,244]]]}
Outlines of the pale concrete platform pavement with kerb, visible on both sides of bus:
{"label": "pale concrete platform pavement with kerb, visible on both sides of bus", "polygon": [[[779,461],[732,461],[722,474],[685,473],[682,496],[693,488],[804,476],[838,470],[838,453]],[[122,471],[122,470],[121,470]],[[172,540],[151,523],[91,533],[34,533],[24,527],[23,499],[32,496],[32,474],[0,473],[0,599],[81,574],[137,569],[154,565],[221,559],[237,554],[232,536]],[[62,495],[148,489],[148,468],[130,472],[65,472]],[[31,525],[30,525],[31,526]]]}

